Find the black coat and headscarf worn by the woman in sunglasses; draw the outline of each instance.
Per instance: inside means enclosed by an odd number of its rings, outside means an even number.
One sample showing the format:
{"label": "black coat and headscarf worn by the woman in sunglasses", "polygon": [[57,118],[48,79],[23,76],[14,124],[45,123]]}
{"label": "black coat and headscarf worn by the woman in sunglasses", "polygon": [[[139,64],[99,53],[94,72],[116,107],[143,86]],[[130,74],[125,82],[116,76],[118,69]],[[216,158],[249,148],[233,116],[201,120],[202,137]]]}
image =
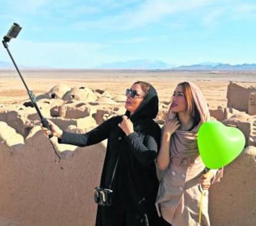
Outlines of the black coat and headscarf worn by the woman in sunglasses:
{"label": "black coat and headscarf worn by the woman in sunglasses", "polygon": [[[152,219],[159,219],[155,211],[155,199],[158,190],[155,163],[160,148],[161,129],[153,119],[158,113],[158,96],[153,86],[140,107],[130,116],[134,132],[128,136],[117,126],[122,116],[108,119],[86,134],[63,132],[61,143],[71,143],[81,147],[93,145],[108,139],[100,186],[108,188],[117,156],[119,164],[113,180],[113,208],[121,210],[124,216],[148,214],[151,225],[161,225]],[[113,226],[102,223],[102,212],[106,207],[98,207],[97,226]],[[103,209],[103,210],[102,210]],[[115,211],[114,211],[115,212]],[[121,215],[122,216],[122,215]],[[119,226],[133,226],[127,222]]]}

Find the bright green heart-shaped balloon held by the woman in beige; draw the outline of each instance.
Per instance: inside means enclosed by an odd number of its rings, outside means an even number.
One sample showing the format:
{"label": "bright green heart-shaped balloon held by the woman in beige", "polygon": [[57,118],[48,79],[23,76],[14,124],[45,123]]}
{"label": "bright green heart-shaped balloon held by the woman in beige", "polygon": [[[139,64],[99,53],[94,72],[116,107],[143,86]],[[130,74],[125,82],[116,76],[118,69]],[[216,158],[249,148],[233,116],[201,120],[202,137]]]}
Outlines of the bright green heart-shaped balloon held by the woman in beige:
{"label": "bright green heart-shaped balloon held by the woman in beige", "polygon": [[198,150],[205,166],[218,169],[231,163],[244,149],[244,134],[219,121],[207,121],[198,130]]}

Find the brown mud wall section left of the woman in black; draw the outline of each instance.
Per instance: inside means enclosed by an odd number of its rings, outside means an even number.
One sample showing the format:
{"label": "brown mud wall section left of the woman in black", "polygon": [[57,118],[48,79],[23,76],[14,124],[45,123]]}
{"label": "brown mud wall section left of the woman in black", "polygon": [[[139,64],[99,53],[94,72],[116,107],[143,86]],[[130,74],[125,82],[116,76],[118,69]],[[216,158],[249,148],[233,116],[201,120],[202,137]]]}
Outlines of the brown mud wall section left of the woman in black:
{"label": "brown mud wall section left of the woman in black", "polygon": [[0,216],[23,226],[94,225],[93,188],[100,183],[104,143],[64,151],[55,163],[39,127],[25,145],[3,142],[0,150]]}

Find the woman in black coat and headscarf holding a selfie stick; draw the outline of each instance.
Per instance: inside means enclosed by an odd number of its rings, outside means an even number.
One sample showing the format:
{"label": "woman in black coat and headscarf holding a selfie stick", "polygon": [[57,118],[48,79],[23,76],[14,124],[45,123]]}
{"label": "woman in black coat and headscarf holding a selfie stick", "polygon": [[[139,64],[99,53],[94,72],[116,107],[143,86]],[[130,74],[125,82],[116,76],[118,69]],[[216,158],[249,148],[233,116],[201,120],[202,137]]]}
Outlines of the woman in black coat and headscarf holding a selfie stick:
{"label": "woman in black coat and headscarf holding a selfie stick", "polygon": [[113,202],[111,206],[98,205],[96,226],[159,226],[154,161],[161,130],[153,121],[158,113],[158,95],[153,86],[143,81],[134,83],[126,95],[127,111],[123,116],[114,116],[85,134],[62,131],[49,121],[51,132],[59,143],[80,147],[108,139],[100,187],[109,188],[111,184]]}

